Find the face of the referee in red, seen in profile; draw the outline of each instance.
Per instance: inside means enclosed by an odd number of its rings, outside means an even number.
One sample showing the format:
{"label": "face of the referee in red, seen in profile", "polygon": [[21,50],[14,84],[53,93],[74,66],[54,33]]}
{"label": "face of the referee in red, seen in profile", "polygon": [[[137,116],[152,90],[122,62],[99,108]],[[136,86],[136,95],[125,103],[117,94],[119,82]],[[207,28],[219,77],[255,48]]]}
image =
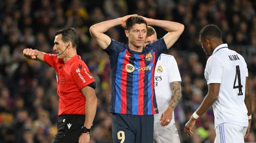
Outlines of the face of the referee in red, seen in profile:
{"label": "face of the referee in red, seen in profile", "polygon": [[57,53],[58,59],[64,59],[66,53],[65,50],[65,43],[62,41],[62,34],[56,35],[54,39],[54,46],[53,50]]}

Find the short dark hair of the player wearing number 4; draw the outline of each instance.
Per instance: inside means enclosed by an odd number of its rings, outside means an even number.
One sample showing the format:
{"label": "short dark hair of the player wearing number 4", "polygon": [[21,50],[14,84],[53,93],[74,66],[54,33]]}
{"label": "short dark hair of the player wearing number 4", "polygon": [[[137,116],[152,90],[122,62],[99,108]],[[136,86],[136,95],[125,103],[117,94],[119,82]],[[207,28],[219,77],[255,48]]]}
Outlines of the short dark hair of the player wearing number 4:
{"label": "short dark hair of the player wearing number 4", "polygon": [[200,31],[201,37],[204,38],[222,38],[222,31],[216,25],[206,25]]}

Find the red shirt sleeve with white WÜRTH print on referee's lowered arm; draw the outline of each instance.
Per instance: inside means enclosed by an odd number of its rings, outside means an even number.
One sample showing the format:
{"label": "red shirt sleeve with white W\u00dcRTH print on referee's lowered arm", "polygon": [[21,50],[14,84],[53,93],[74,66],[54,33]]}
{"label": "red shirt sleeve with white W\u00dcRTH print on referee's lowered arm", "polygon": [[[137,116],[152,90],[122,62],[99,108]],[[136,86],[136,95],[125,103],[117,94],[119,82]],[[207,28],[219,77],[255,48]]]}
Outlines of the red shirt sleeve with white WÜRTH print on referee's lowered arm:
{"label": "red shirt sleeve with white W\u00dcRTH print on referee's lowered arm", "polygon": [[71,70],[71,75],[76,82],[78,89],[81,90],[94,82],[94,78],[91,76],[91,73],[84,62],[74,64],[74,66],[71,67]]}

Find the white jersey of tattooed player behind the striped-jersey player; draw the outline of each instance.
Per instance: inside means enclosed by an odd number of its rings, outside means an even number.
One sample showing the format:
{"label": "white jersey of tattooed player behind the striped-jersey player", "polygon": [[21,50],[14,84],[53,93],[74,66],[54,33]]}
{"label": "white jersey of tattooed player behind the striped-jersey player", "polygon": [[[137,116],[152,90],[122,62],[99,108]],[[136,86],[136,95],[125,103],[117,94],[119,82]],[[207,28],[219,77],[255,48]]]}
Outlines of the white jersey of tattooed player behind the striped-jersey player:
{"label": "white jersey of tattooed player behind the striped-jersey player", "polygon": [[176,60],[172,55],[161,54],[154,72],[154,90],[159,114],[154,114],[154,130],[166,129],[174,124],[174,113],[169,125],[161,127],[160,118],[170,104],[172,91],[170,82],[181,81]]}

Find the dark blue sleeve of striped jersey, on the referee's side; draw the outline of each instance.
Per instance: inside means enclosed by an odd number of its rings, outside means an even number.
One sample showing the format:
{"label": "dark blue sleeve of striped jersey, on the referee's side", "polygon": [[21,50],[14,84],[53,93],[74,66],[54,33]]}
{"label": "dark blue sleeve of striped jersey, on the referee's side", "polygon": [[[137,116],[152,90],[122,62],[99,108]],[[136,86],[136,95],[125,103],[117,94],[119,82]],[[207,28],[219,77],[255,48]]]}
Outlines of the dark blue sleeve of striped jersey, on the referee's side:
{"label": "dark blue sleeve of striped jersey, on the referee's side", "polygon": [[113,56],[115,54],[118,54],[119,52],[123,51],[125,49],[125,44],[119,43],[118,41],[115,41],[111,39],[111,43],[109,46],[104,49],[104,51],[109,55]]}

